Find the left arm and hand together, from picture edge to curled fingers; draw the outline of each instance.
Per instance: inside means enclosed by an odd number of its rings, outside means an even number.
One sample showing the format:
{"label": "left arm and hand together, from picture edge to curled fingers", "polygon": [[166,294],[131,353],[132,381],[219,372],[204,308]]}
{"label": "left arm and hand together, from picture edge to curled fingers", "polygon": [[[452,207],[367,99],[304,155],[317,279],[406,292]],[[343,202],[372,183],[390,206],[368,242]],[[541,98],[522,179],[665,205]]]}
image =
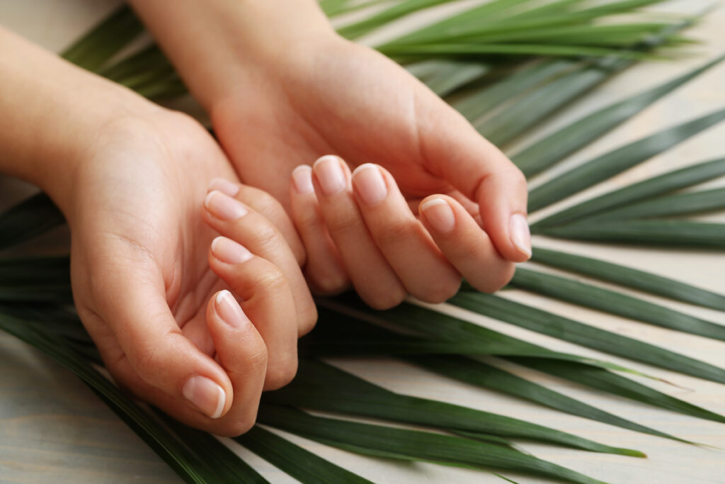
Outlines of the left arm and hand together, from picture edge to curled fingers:
{"label": "left arm and hand together, from picture edge to curled fingers", "polygon": [[[3,30],[0,77],[0,171],[66,216],[75,305],[109,372],[186,424],[249,429],[262,390],[294,377],[297,337],[317,317],[281,205],[232,183],[195,120]],[[211,210],[235,200],[243,216]],[[230,245],[249,258],[230,263]]]}

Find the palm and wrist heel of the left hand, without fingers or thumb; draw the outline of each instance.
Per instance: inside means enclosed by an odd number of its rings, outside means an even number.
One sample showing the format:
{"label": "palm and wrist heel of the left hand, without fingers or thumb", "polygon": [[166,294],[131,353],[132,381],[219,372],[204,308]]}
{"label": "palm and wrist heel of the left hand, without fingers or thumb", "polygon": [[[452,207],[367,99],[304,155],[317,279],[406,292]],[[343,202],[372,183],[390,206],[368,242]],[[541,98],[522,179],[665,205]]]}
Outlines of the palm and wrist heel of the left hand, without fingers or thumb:
{"label": "palm and wrist heel of the left hand, without fingers or thumb", "polygon": [[209,181],[233,173],[200,126],[180,115],[163,118],[162,128],[123,132],[123,144],[99,141],[96,163],[77,185],[104,186],[79,194],[88,210],[79,210],[71,226],[76,303],[107,360],[123,360],[104,320],[112,313],[107,294],[119,291],[122,298],[125,284],[156,287],[183,334],[213,354],[204,309],[224,284],[207,264],[214,233],[201,205]]}

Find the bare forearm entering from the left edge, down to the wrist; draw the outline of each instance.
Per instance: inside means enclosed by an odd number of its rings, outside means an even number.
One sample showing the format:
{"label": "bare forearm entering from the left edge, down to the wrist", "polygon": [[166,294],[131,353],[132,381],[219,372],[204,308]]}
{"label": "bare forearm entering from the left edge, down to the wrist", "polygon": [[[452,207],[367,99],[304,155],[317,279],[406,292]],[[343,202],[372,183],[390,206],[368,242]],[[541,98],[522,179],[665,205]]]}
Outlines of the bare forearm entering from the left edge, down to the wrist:
{"label": "bare forearm entering from the left edge, down to the wrist", "polygon": [[62,197],[102,127],[146,109],[136,94],[0,28],[0,171]]}

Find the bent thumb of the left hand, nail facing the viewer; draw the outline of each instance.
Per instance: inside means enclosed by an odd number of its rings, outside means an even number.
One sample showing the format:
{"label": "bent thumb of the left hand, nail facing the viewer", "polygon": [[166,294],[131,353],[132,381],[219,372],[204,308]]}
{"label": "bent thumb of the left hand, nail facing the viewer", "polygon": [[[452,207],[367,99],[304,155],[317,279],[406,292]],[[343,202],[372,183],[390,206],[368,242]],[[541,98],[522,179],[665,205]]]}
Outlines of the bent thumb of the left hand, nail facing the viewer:
{"label": "bent thumb of the left hand, nail facing the viewer", "polygon": [[125,372],[125,381],[141,395],[152,395],[149,388],[164,393],[165,410],[180,404],[195,422],[220,417],[231,402],[231,381],[181,333],[154,261],[125,242],[91,255],[96,257],[104,264],[91,261],[90,266],[104,270],[93,274],[94,312],[117,339],[123,353],[116,359],[132,370]]}

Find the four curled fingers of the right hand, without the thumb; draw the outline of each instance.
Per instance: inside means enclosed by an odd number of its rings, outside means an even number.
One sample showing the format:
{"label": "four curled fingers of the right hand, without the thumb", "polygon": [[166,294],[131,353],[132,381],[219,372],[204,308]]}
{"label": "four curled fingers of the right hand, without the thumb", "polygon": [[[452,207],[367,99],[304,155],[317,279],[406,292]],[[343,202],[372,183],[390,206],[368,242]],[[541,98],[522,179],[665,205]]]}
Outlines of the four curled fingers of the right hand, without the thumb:
{"label": "four curled fingers of the right hand, without the thumb", "polygon": [[290,200],[308,279],[333,282],[316,286],[319,292],[336,292],[349,276],[363,300],[385,309],[407,292],[441,303],[457,292],[461,274],[489,292],[513,276],[513,263],[459,202],[427,197],[418,220],[381,166],[367,163],[351,174],[338,157],[321,157],[292,172]]}

